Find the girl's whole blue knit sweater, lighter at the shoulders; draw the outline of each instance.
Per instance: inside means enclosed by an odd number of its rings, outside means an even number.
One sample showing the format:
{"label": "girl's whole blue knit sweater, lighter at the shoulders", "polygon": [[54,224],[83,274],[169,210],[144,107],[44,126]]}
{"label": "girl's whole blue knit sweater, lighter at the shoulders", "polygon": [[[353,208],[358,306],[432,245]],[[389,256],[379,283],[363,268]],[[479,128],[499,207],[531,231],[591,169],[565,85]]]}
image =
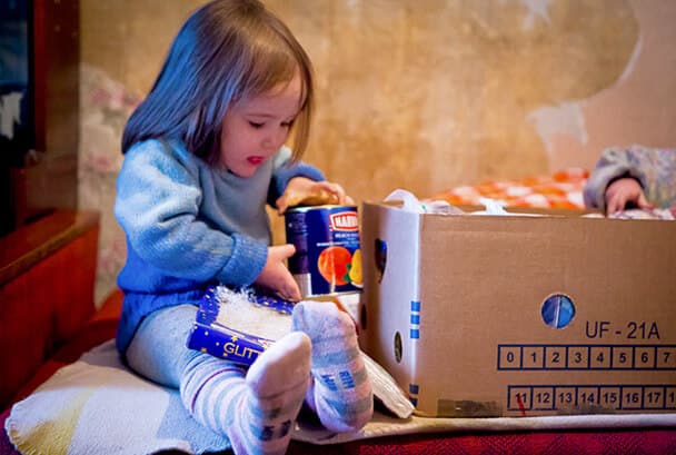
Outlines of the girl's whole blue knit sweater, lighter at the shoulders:
{"label": "girl's whole blue knit sweater, lighter at the shoulders", "polygon": [[249,178],[210,167],[178,141],[148,140],[125,155],[115,215],[127,236],[117,346],[125,354],[150,313],[199,304],[208,285],[247,286],[262,270],[274,206],[297,176],[324,180],[307,164],[288,165],[282,147]]}

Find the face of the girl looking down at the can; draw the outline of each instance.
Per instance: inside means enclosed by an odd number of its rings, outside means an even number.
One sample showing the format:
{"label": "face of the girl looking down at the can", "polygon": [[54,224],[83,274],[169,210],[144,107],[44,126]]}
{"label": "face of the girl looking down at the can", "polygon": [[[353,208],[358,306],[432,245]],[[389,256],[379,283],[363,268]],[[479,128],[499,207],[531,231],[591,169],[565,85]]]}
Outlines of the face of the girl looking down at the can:
{"label": "face of the girl looking down at the can", "polygon": [[232,103],[223,117],[219,165],[239,177],[251,177],[289,136],[300,109],[298,72],[267,93]]}

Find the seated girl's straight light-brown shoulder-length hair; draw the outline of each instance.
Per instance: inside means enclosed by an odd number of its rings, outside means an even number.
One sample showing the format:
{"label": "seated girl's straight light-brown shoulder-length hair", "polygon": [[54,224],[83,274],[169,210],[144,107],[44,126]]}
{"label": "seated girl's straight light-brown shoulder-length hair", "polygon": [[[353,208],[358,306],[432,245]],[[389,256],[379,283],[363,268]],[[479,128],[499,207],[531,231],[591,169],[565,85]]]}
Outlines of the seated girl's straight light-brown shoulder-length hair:
{"label": "seated girl's straight light-brown shoulder-length hair", "polygon": [[314,102],[312,66],[287,26],[258,0],[215,0],[176,36],[147,98],[129,118],[122,152],[146,139],[179,139],[213,162],[232,102],[301,79],[301,107],[291,126],[294,159],[307,148]]}

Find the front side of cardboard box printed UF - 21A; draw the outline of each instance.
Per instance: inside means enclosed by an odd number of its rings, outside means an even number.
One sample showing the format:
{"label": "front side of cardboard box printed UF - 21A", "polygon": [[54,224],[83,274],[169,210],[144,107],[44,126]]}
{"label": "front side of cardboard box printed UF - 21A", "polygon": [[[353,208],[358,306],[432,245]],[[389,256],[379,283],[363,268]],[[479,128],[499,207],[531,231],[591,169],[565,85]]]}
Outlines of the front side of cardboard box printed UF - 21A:
{"label": "front side of cardboard box printed UF - 21A", "polygon": [[[674,384],[673,370],[646,375],[646,370],[604,369],[613,350],[610,343],[630,344],[636,355],[636,345],[659,342],[668,346],[676,340],[676,327],[665,314],[673,307],[676,291],[676,280],[664,268],[676,257],[676,243],[664,245],[669,238],[674,240],[675,231],[667,227],[575,218],[425,219],[420,247],[421,347],[417,364],[425,373],[420,373],[418,414],[541,415],[585,408],[599,412],[608,406],[571,403],[563,409],[530,405],[521,409],[514,405],[517,395],[510,404],[508,394],[510,387],[514,390],[518,385],[528,385],[524,390],[531,399],[530,385],[539,385],[536,390],[540,395],[543,390],[551,395],[556,390],[568,393],[563,386],[589,385],[586,396],[594,396],[600,393],[595,388],[599,384],[640,383],[642,390],[653,384]],[[627,244],[627,239],[632,243]],[[556,293],[568,295],[577,306],[573,323],[560,329],[547,326],[543,319],[543,304]],[[600,327],[606,328],[605,333],[599,332]],[[650,336],[649,327],[656,327],[659,337],[657,333]],[[521,362],[533,362],[533,369],[498,370],[499,346],[510,344]],[[570,348],[573,344],[581,346],[583,362],[590,362],[593,368],[573,366],[563,372],[535,367],[545,355],[544,345]],[[646,352],[653,358],[657,352],[650,349]],[[447,362],[439,362],[439,353]],[[667,347],[660,354],[676,355],[676,350]],[[605,359],[594,367],[593,363],[604,355]],[[608,390],[620,389],[605,390],[607,395]],[[653,392],[664,396],[667,390]],[[612,412],[632,409],[613,407]]]}

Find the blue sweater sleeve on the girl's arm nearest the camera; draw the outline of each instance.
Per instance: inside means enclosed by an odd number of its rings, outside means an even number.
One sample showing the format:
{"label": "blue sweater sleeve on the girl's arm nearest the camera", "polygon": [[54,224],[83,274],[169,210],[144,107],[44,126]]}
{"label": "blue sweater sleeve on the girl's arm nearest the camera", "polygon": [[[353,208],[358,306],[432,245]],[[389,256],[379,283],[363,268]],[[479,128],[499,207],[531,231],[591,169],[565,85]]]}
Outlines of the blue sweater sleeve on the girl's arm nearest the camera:
{"label": "blue sweater sleeve on the girl's arm nearest the camera", "polygon": [[266,263],[267,245],[200,220],[199,165],[185,154],[159,141],[127,152],[115,214],[130,245],[141,259],[171,276],[254,283]]}

